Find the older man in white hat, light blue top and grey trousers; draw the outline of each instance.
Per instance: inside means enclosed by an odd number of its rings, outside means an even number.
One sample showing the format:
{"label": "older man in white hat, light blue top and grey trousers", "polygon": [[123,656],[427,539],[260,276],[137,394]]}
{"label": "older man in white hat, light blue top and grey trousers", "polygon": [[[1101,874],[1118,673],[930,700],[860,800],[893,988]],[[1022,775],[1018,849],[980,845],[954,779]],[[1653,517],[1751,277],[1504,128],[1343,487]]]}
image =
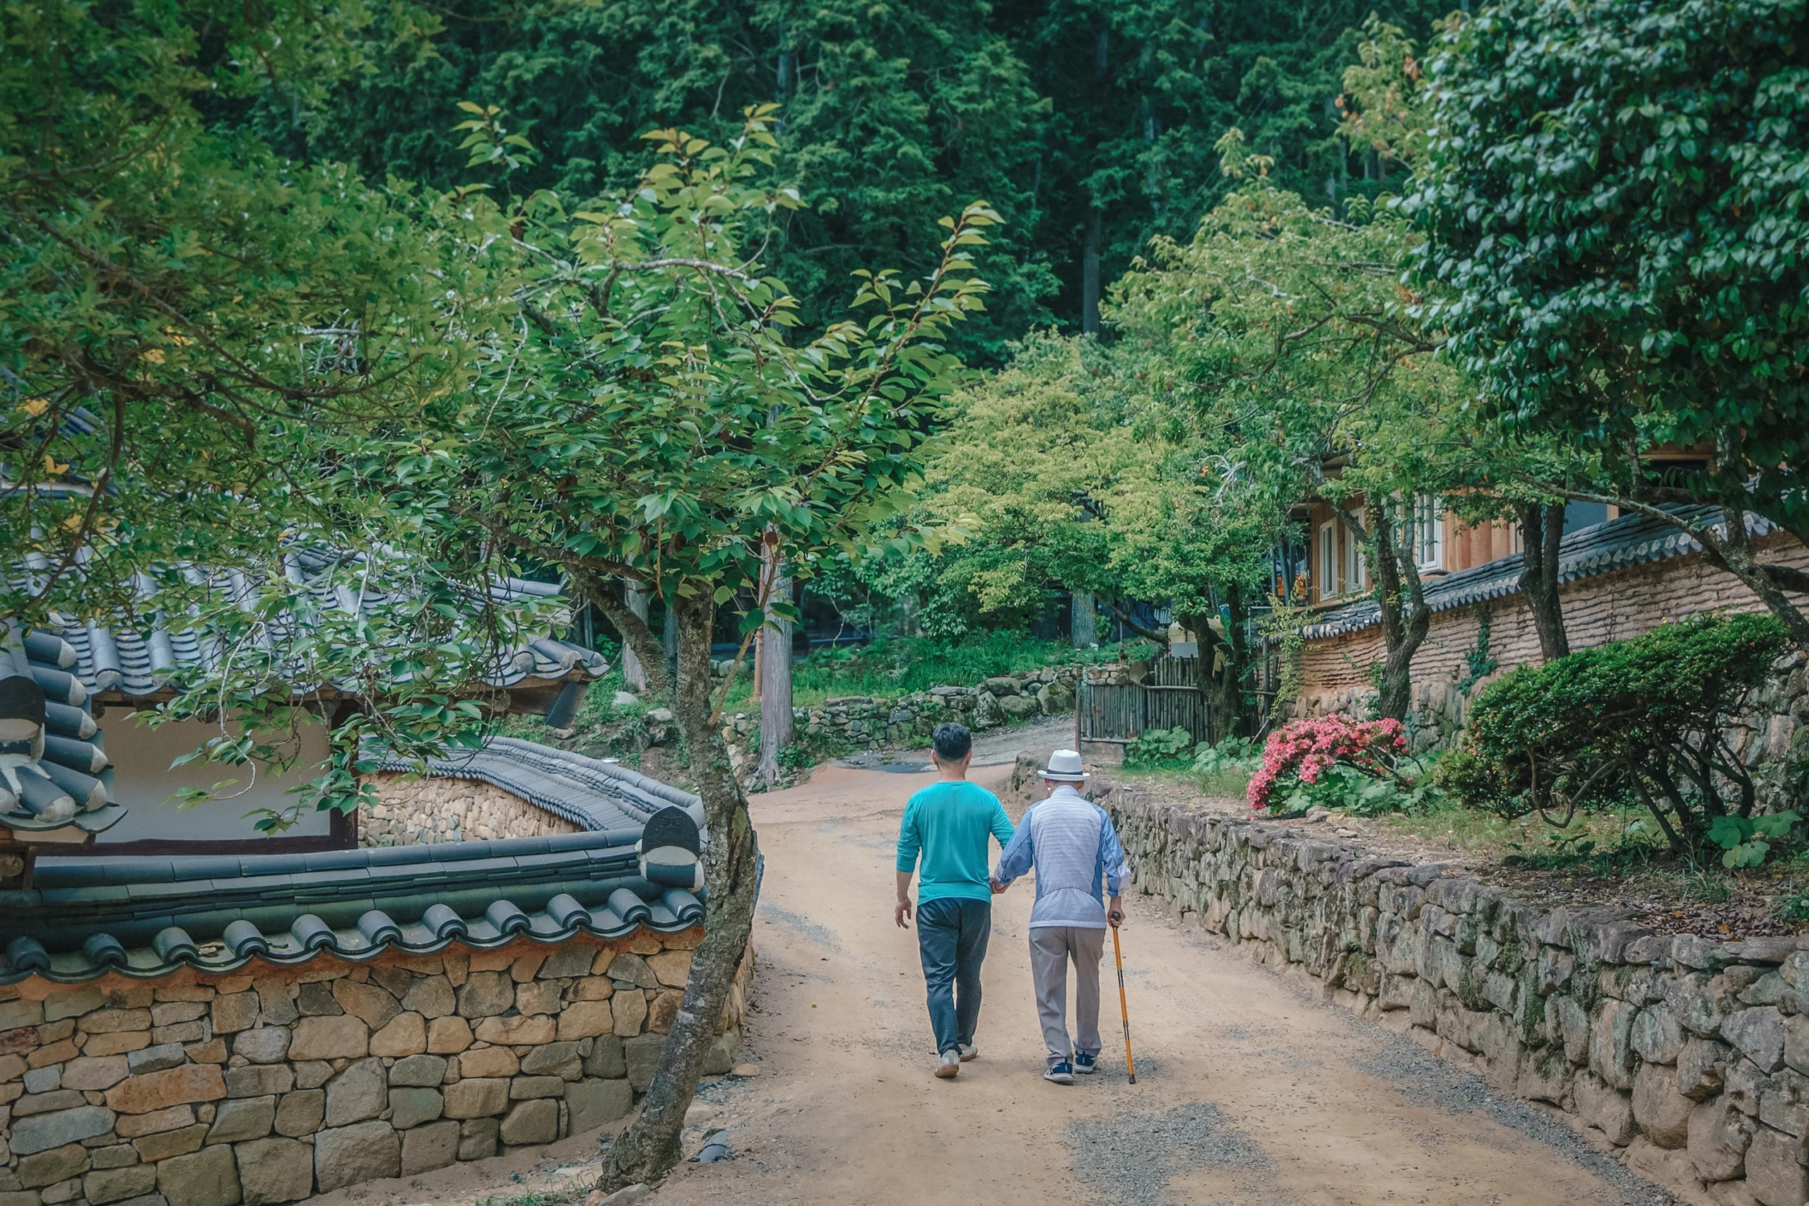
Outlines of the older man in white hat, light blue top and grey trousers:
{"label": "older man in white hat, light blue top and grey trousers", "polygon": [[[1044,1079],[1073,1085],[1100,1061],[1100,958],[1105,926],[1123,922],[1125,852],[1105,810],[1078,785],[1091,776],[1075,750],[1055,750],[1042,772],[1049,797],[1024,810],[999,857],[993,891],[1037,868],[1037,904],[1029,913],[1029,967],[1037,982],[1049,1069]],[[1100,897],[1100,879],[1105,895]],[[1075,1038],[1067,1038],[1067,964],[1075,964]]]}

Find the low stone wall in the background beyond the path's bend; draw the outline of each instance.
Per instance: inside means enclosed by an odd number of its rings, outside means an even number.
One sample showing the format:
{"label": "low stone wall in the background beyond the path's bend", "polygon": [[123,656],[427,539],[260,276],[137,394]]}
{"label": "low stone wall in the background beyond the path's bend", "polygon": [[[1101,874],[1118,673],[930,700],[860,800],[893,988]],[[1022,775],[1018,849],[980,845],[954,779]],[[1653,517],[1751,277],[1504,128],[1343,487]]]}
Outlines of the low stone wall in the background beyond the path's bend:
{"label": "low stone wall in the background beyond the path's bend", "polygon": [[[995,729],[1008,720],[1031,716],[1067,716],[1075,711],[1075,683],[1080,665],[1051,665],[1022,674],[999,674],[979,687],[930,687],[895,702],[850,696],[818,707],[792,709],[798,738],[821,740],[843,749],[881,749],[886,745],[926,743],[942,721],[968,729]],[[758,712],[736,712],[724,720],[722,740],[729,743],[729,763],[753,768],[758,756]]]}

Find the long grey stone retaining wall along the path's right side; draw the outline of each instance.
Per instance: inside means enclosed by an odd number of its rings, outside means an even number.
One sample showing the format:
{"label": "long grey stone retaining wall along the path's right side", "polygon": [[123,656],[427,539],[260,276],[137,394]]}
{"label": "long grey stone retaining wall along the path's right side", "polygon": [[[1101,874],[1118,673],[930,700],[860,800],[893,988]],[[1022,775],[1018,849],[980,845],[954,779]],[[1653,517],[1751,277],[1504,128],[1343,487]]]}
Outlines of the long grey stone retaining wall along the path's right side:
{"label": "long grey stone retaining wall along the path's right side", "polygon": [[1313,826],[1102,788],[1138,890],[1176,917],[1565,1110],[1686,1202],[1809,1199],[1809,938],[1653,935],[1619,911],[1545,911],[1444,866],[1366,859]]}

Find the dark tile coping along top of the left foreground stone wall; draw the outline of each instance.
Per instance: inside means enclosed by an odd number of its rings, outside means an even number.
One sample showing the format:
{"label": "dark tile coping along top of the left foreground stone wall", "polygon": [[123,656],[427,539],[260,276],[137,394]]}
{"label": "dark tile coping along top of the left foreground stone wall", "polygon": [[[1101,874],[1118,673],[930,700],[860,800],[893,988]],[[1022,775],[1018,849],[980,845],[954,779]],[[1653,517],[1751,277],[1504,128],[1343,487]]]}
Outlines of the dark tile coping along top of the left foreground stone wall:
{"label": "dark tile coping along top of the left foreground stone wall", "polygon": [[[664,824],[682,823],[673,808]],[[626,841],[624,841],[626,837]],[[586,832],[293,855],[40,861],[0,893],[0,984],[116,971],[369,960],[394,949],[488,949],[528,937],[677,933],[704,904],[640,873],[637,834]]]}

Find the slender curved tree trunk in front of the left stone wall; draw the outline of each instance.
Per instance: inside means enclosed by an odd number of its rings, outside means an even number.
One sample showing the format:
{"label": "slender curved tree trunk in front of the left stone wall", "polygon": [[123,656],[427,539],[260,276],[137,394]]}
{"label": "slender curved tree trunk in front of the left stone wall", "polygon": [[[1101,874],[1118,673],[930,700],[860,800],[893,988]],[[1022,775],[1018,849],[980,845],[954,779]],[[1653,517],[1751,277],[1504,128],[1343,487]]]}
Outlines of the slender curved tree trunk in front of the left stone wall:
{"label": "slender curved tree trunk in front of the left stone wall", "polygon": [[[684,1155],[678,1135],[691,1108],[704,1056],[716,1038],[716,1020],[729,1000],[734,969],[747,951],[754,920],[754,891],[760,884],[760,846],[747,819],[747,797],[729,770],[729,750],[722,730],[709,723],[711,678],[709,636],[715,620],[709,584],[696,584],[691,597],[677,597],[678,682],[673,712],[691,754],[691,774],[709,824],[704,852],[704,942],[691,955],[691,976],[684,1000],[660,1049],[653,1085],[640,1103],[640,1117],[615,1137],[610,1161],[597,1188],[611,1193],[630,1184],[651,1184],[664,1177]],[[646,629],[642,658],[658,656],[651,629]],[[637,642],[639,645],[640,642]]]}

